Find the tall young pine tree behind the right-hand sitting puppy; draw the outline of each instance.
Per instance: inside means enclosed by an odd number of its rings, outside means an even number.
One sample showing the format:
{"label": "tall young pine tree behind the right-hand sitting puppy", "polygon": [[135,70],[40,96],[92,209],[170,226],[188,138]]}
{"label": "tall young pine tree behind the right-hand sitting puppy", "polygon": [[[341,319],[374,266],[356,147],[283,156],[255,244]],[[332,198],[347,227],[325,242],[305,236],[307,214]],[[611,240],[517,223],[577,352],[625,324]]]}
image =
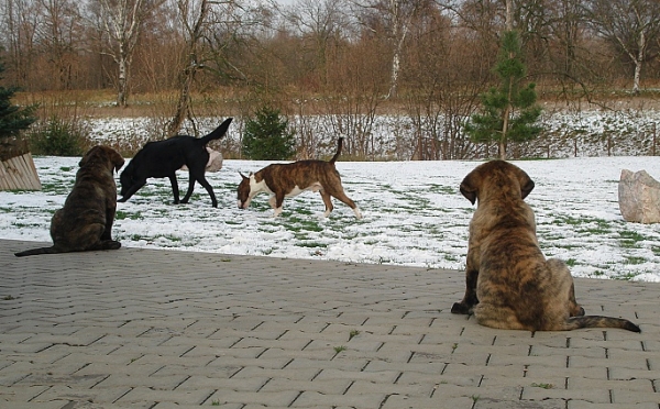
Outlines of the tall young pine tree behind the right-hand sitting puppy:
{"label": "tall young pine tree behind the right-hand sitting puppy", "polygon": [[494,67],[499,86],[482,95],[483,112],[472,115],[465,124],[465,132],[473,142],[496,141],[501,159],[506,159],[508,141],[530,141],[542,130],[535,124],[541,114],[541,108],[536,104],[536,84],[522,86],[526,67],[520,54],[518,33],[505,31]]}

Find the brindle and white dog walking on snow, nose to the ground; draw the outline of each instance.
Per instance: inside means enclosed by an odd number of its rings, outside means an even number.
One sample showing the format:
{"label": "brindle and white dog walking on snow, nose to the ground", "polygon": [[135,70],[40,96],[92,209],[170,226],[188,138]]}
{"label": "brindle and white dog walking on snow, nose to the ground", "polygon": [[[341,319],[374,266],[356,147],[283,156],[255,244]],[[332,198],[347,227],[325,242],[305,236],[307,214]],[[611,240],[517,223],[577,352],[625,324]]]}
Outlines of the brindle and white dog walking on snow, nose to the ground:
{"label": "brindle and white dog walking on snow, nose to the ground", "polygon": [[298,161],[290,164],[273,164],[264,167],[250,177],[241,174],[242,180],[239,185],[239,208],[246,209],[257,194],[271,195],[270,203],[275,209],[275,217],[282,213],[284,198],[300,195],[305,190],[321,194],[328,217],[332,209],[331,197],[346,203],[358,219],[362,219],[360,209],[343,191],[339,172],[334,162],[341,154],[343,139],[340,137],[337,153],[329,162],[326,161]]}

